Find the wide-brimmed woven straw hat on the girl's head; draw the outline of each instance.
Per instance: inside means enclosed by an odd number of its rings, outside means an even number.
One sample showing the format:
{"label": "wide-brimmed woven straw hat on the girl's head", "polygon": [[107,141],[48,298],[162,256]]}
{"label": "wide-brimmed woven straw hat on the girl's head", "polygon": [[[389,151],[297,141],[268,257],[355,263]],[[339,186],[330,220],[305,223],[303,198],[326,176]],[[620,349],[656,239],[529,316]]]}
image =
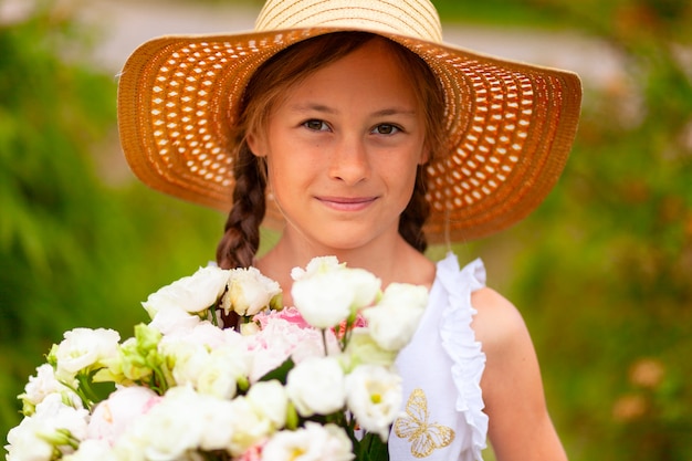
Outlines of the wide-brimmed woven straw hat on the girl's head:
{"label": "wide-brimmed woven straw hat on the girl's head", "polygon": [[[429,241],[481,238],[517,222],[553,188],[577,129],[576,74],[442,42],[428,0],[269,0],[244,33],[164,36],[128,59],[118,90],[122,146],[148,186],[228,211],[230,129],[252,73],[280,50],[343,30],[420,55],[444,90],[449,154],[429,166]],[[265,223],[281,216],[268,203]]]}

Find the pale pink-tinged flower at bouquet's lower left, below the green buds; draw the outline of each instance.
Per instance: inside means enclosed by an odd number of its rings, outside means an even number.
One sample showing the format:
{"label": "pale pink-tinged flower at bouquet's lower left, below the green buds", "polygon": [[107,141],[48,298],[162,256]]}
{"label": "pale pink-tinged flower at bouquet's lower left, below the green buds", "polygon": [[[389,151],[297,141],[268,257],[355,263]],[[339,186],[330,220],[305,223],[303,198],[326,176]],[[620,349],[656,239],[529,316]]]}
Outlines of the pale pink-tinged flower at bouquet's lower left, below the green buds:
{"label": "pale pink-tinged flower at bouquet's lower left, below the green buds", "polygon": [[87,428],[87,439],[105,440],[111,446],[125,429],[149,411],[162,397],[146,387],[123,387],[99,402]]}

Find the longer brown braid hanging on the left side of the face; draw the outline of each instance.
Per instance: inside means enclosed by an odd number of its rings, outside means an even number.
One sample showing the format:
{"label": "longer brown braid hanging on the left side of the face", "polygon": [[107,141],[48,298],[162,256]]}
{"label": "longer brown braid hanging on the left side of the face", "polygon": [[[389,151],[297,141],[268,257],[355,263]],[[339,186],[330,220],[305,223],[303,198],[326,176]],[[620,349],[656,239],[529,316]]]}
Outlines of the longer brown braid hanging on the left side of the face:
{"label": "longer brown braid hanging on the left side of the face", "polygon": [[249,268],[260,248],[260,224],[266,209],[266,176],[262,165],[242,143],[233,167],[233,206],[217,247],[217,263],[222,269]]}

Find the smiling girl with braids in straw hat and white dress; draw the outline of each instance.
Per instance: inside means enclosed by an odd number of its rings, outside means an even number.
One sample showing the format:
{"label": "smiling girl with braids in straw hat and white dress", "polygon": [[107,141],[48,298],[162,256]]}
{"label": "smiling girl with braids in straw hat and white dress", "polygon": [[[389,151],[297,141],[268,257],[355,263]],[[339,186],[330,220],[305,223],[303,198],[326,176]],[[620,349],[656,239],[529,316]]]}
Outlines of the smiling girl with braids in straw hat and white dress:
{"label": "smiling girl with braids in straw hat and white dress", "polygon": [[[291,269],[333,254],[430,289],[397,365],[392,460],[564,460],[521,315],[474,261],[430,242],[533,210],[566,161],[576,75],[441,42],[428,0],[269,0],[255,30],[171,36],[128,60],[125,155],[146,184],[229,209],[217,259],[259,268],[290,305]],[[282,229],[256,258],[260,224]]]}

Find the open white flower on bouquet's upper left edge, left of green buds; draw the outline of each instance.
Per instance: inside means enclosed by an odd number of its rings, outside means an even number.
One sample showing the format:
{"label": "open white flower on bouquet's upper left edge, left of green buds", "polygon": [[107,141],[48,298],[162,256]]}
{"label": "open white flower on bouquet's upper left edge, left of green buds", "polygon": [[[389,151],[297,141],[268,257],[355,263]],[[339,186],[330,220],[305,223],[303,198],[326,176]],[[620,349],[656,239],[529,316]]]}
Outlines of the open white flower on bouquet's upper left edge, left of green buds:
{"label": "open white flower on bouquet's upper left edge, left of green buds", "polygon": [[55,377],[63,383],[71,383],[80,373],[104,367],[104,360],[117,356],[120,340],[116,331],[106,328],[74,328],[63,337],[49,354],[49,363],[55,364]]}

